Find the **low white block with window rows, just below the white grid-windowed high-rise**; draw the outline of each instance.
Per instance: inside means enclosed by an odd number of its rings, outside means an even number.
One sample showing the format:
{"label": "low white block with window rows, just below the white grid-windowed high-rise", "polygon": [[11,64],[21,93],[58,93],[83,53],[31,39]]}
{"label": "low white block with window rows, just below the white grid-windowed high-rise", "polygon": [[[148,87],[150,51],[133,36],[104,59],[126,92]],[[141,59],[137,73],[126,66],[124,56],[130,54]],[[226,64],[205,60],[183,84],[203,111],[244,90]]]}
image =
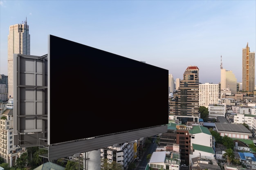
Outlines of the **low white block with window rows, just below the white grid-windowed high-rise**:
{"label": "low white block with window rows, just below the white grid-windowed high-rise", "polygon": [[209,118],[217,119],[218,116],[225,117],[226,110],[225,104],[210,104],[208,106]]}

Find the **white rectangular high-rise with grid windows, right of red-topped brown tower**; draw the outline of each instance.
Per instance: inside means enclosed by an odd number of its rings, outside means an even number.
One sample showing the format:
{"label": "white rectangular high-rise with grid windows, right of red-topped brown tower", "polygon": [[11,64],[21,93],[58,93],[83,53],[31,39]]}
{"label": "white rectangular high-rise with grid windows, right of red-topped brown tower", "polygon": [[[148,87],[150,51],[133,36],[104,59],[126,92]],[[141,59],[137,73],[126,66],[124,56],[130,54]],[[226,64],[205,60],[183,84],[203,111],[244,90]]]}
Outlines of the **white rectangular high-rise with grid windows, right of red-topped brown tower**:
{"label": "white rectangular high-rise with grid windows, right of red-topped brown tower", "polygon": [[218,104],[219,84],[199,84],[199,106],[208,108],[209,104]]}

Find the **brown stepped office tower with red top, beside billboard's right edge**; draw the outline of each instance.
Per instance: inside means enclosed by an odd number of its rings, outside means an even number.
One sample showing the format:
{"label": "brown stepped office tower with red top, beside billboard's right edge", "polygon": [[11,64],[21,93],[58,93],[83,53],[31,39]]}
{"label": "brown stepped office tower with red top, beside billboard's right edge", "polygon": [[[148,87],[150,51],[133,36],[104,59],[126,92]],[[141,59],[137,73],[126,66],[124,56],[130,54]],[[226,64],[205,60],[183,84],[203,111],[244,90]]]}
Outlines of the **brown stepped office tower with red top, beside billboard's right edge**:
{"label": "brown stepped office tower with red top, beside billboard's right edge", "polygon": [[199,121],[199,68],[188,66],[180,81],[180,88],[169,97],[169,116],[186,123]]}

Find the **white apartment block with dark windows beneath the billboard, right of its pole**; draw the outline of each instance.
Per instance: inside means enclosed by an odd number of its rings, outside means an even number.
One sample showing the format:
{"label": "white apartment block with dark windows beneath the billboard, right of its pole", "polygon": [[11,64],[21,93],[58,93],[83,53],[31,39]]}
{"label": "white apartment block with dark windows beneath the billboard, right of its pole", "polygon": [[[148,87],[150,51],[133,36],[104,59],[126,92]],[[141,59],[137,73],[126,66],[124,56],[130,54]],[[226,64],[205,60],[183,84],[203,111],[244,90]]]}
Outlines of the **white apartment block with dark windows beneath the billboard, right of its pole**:
{"label": "white apartment block with dark windows beneath the billboard, right of its pole", "polygon": [[135,141],[101,148],[101,161],[104,158],[107,158],[109,163],[116,161],[123,166],[123,170],[127,170],[128,164],[135,158],[134,145],[136,146]]}

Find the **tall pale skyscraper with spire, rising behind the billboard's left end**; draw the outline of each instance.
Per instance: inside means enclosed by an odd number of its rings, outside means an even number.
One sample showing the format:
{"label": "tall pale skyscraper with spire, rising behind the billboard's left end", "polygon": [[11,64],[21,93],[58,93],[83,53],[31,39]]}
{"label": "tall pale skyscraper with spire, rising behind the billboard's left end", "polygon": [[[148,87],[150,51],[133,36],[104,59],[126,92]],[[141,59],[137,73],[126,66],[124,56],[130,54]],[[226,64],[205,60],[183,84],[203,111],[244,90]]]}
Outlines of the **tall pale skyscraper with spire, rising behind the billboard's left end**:
{"label": "tall pale skyscraper with spire, rising behind the billboard's left end", "polygon": [[9,26],[8,35],[8,96],[13,97],[13,54],[30,55],[30,34],[27,19]]}

